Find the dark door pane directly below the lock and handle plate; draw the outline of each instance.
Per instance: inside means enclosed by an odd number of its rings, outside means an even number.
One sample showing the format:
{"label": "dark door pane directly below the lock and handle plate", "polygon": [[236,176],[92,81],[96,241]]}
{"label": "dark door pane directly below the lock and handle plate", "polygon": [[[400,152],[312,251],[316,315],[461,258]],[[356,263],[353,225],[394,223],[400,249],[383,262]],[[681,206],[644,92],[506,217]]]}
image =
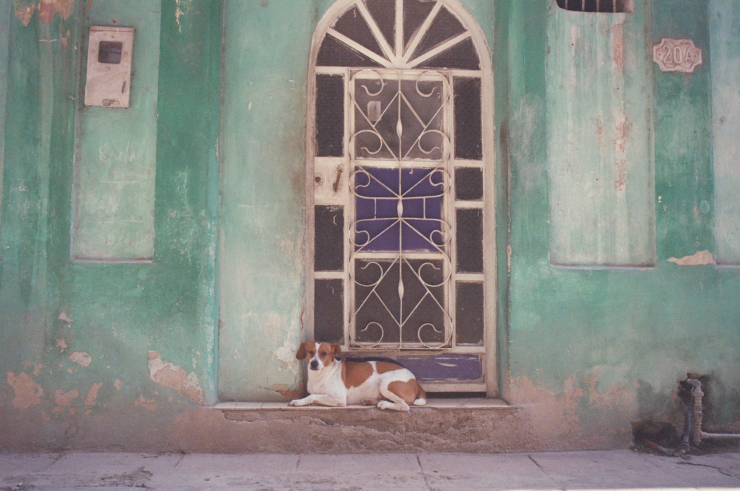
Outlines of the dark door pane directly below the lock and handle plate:
{"label": "dark door pane directly below the lock and handle plate", "polygon": [[344,270],[344,207],[314,206],[314,270]]}

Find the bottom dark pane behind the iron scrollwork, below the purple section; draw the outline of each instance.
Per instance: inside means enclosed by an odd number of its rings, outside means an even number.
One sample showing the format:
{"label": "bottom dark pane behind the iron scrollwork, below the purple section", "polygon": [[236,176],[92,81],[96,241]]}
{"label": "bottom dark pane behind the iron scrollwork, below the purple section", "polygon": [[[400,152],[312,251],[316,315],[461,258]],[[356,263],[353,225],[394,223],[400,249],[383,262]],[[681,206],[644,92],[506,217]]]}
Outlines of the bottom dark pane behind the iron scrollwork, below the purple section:
{"label": "bottom dark pane behind the iron scrollwork, below the purple section", "polygon": [[[403,272],[403,310],[398,287],[400,271]],[[445,302],[442,261],[356,259],[354,280],[357,282],[354,304],[359,309],[355,315],[356,341],[377,342],[382,335],[383,342],[398,342],[399,324],[403,324],[403,341],[418,342],[419,335],[432,346],[444,341],[445,315],[437,305]],[[425,326],[419,331],[423,324],[434,327]]]}

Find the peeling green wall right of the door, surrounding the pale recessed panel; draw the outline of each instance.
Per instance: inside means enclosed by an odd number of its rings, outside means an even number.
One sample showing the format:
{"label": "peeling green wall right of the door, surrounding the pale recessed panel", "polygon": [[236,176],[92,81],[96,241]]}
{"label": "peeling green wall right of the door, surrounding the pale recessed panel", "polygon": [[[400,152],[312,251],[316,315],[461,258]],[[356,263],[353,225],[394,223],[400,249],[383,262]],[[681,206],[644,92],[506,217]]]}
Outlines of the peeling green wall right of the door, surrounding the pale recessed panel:
{"label": "peeling green wall right of the door, surrounding the pale recessed panel", "polygon": [[[508,145],[511,198],[505,395],[513,402],[553,398],[559,401],[553,421],[586,434],[609,426],[626,443],[632,421],[672,420],[676,381],[687,371],[712,373],[713,424],[737,428],[738,272],[717,269],[710,253],[698,256],[703,261],[680,261],[714,250],[710,60],[692,75],[652,67],[658,267],[551,267],[542,117],[548,4],[498,2],[504,13],[498,20],[511,19],[504,27],[508,111],[498,125]],[[706,4],[654,0],[650,7],[644,29],[651,44],[693,39],[707,53]]]}

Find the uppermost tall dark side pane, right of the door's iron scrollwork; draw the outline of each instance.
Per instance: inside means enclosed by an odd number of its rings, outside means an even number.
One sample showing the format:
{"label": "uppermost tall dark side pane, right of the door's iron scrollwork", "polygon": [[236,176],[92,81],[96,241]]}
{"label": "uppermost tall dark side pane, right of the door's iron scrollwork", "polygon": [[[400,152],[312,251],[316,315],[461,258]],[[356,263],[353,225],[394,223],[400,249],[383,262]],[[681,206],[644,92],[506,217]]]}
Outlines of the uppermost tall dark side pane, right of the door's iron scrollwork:
{"label": "uppermost tall dark side pane, right of the door's iron scrollwork", "polygon": [[454,78],[455,158],[483,158],[480,79]]}

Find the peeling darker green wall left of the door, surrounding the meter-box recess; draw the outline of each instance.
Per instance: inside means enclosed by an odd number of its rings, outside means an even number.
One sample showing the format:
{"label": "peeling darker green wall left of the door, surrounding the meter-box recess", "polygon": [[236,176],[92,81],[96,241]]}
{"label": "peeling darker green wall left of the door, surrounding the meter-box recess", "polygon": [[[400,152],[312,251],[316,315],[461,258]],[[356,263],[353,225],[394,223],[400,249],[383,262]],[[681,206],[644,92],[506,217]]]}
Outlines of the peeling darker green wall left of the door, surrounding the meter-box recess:
{"label": "peeling darker green wall left of the door, surrounding the meter-box recess", "polygon": [[154,261],[105,264],[70,261],[78,27],[99,0],[53,3],[10,20],[0,446],[117,448],[216,397],[221,6],[162,2]]}

